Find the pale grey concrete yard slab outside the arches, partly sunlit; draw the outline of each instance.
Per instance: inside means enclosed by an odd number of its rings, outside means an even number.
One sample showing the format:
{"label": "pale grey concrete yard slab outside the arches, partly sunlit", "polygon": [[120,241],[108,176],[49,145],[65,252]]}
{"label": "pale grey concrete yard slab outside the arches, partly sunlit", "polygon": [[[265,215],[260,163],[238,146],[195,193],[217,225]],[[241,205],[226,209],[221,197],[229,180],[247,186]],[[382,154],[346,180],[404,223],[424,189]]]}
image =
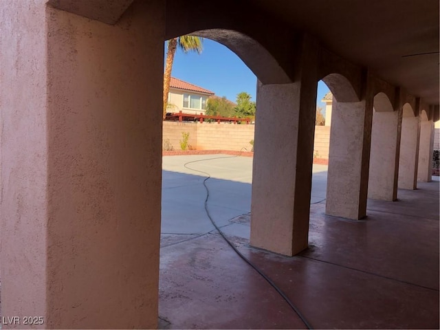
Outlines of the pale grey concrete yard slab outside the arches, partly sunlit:
{"label": "pale grey concrete yard slab outside the arches, partly sunlit", "polygon": [[[204,208],[203,180],[207,177],[205,173],[209,173],[208,209],[214,221],[224,232],[249,239],[250,226],[230,220],[250,212],[252,157],[165,156],[163,162],[162,238],[214,230]],[[314,165],[311,203],[325,199],[326,188],[327,166]]]}

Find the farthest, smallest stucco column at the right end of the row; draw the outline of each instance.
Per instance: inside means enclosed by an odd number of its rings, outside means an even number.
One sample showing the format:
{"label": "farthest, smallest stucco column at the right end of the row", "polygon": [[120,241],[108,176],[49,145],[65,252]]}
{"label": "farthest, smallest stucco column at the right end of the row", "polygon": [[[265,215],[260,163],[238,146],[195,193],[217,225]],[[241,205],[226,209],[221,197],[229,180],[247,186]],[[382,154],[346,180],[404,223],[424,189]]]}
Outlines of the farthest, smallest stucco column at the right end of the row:
{"label": "farthest, smallest stucco column at the right end of the row", "polygon": [[431,181],[433,145],[434,122],[423,120],[420,122],[419,165],[417,166],[417,179],[419,181]]}

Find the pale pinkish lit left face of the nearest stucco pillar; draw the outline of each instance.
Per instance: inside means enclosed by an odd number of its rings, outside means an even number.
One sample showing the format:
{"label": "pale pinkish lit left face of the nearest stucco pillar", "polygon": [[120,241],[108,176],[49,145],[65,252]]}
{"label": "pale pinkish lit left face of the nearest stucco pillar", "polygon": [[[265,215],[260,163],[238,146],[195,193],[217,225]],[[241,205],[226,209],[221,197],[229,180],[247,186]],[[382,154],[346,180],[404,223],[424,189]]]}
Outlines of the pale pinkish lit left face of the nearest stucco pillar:
{"label": "pale pinkish lit left face of the nearest stucco pillar", "polygon": [[1,316],[45,317],[45,1],[0,1],[0,15]]}

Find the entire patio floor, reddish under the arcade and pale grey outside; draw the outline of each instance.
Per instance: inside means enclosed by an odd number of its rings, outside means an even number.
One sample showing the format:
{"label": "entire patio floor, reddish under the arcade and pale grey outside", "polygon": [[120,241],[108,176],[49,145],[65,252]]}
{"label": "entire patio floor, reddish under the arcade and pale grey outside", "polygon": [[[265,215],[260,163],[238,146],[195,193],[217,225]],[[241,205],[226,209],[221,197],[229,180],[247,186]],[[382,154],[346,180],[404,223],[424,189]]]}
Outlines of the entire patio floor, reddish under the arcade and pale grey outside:
{"label": "entire patio floor, reddish under the arcade and pale grey outside", "polygon": [[[202,162],[195,162],[202,159]],[[306,329],[206,215],[314,329],[439,329],[439,181],[368,203],[368,217],[325,215],[327,166],[314,165],[309,249],[250,247],[252,158],[163,157],[159,327]]]}

